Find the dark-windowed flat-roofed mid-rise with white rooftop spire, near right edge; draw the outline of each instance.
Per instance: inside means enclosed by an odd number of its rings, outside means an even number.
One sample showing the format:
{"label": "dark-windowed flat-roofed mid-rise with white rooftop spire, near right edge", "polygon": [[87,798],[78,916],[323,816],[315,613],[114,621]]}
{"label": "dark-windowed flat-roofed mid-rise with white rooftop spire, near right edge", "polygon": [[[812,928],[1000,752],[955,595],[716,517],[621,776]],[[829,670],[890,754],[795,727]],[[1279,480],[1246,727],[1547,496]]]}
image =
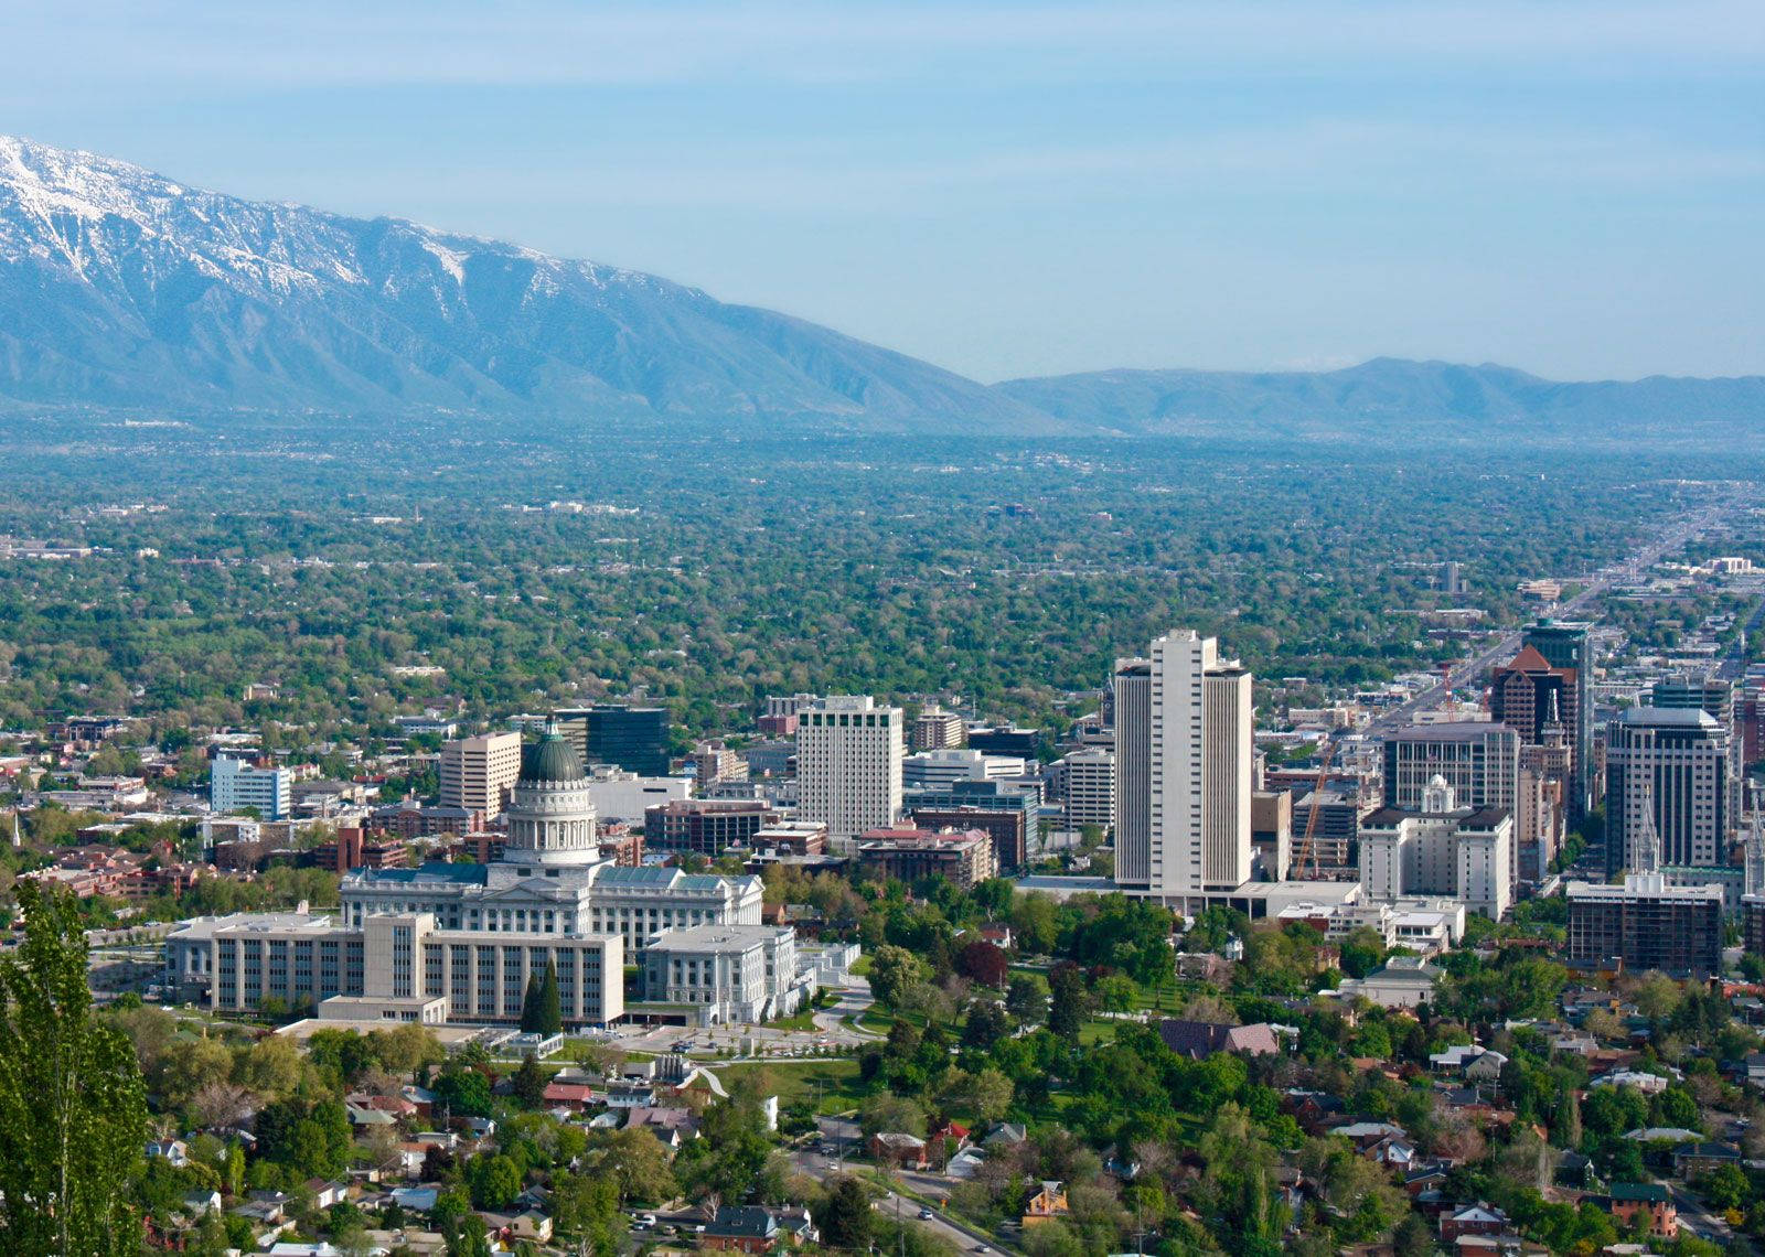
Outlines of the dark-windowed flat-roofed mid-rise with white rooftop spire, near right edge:
{"label": "dark-windowed flat-roofed mid-rise with white rooftop spire, near right edge", "polygon": [[1671,886],[1659,872],[1638,872],[1622,886],[1571,881],[1566,897],[1573,964],[1693,978],[1723,971],[1721,886]]}

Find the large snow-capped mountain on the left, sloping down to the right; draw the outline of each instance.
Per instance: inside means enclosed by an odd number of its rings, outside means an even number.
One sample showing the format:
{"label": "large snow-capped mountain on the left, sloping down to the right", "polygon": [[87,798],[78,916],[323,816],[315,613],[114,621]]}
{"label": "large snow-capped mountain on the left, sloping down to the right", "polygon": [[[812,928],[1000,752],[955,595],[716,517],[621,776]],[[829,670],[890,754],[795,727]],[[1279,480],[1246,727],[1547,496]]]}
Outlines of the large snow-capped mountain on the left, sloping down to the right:
{"label": "large snow-capped mountain on the left, sloping down to the right", "polygon": [[0,397],[1064,427],[925,362],[655,275],[244,201],[4,136]]}

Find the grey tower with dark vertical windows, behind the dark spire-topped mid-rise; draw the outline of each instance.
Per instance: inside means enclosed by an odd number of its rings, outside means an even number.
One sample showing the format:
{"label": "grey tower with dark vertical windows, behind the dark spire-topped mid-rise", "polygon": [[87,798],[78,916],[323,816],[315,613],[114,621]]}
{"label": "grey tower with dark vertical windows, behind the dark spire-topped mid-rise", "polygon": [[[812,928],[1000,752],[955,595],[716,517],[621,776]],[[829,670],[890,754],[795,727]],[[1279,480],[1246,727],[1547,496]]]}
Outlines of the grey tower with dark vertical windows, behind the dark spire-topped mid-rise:
{"label": "grey tower with dark vertical windows, behind the dark spire-topped mid-rise", "polygon": [[1606,726],[1606,876],[1728,863],[1731,731],[1700,708],[1631,708]]}

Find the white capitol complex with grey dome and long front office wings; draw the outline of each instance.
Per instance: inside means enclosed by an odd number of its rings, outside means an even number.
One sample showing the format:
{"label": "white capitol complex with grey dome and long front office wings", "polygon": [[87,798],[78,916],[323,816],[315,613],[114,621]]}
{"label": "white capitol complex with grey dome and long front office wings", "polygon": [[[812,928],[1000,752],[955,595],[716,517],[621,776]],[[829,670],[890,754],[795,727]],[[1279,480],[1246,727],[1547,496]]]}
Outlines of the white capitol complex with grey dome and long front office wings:
{"label": "white capitol complex with grey dome and long front office wings", "polygon": [[[630,869],[600,854],[582,763],[556,729],[522,749],[505,819],[494,863],[349,872],[335,920],[185,922],[166,939],[166,983],[217,1012],[277,999],[311,1001],[328,1020],[515,1024],[528,978],[554,966],[565,1022],[605,1026],[627,1013],[625,966],[662,945],[669,964],[641,973],[646,1012],[671,1020],[761,1020],[812,992],[792,932],[761,925],[759,877]],[[665,976],[713,971],[736,978],[695,987]]]}

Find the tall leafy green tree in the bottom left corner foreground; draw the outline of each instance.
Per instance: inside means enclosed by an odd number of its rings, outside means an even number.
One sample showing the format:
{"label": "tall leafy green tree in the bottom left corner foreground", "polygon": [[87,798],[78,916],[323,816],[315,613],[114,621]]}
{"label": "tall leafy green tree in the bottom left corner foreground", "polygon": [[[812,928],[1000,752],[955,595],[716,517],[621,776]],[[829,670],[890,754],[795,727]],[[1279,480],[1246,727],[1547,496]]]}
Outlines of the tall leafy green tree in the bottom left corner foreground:
{"label": "tall leafy green tree in the bottom left corner foreground", "polygon": [[71,897],[16,886],[25,939],[0,960],[0,1248],[136,1253],[129,1179],[146,1088],[129,1040],[92,1017]]}

